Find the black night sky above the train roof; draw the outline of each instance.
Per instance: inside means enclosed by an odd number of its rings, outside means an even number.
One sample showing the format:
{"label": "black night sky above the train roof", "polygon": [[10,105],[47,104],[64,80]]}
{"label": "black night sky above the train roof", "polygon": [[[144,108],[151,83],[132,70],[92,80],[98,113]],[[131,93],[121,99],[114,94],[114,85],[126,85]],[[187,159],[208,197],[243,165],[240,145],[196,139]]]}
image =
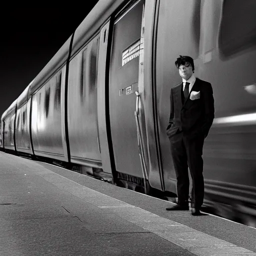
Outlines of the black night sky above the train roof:
{"label": "black night sky above the train roof", "polygon": [[66,4],[67,7],[13,6],[1,10],[0,116],[69,38],[97,0],[89,2],[76,8]]}

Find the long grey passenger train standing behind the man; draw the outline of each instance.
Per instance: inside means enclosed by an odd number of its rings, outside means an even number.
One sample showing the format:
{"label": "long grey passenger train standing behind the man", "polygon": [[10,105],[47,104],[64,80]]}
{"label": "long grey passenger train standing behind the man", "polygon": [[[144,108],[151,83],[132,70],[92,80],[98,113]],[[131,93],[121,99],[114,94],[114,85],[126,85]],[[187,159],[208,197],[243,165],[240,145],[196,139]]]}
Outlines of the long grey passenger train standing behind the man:
{"label": "long grey passenger train standing behind the man", "polygon": [[169,92],[190,55],[214,96],[204,205],[256,226],[255,13],[255,0],[99,0],[2,114],[1,149],[175,196]]}

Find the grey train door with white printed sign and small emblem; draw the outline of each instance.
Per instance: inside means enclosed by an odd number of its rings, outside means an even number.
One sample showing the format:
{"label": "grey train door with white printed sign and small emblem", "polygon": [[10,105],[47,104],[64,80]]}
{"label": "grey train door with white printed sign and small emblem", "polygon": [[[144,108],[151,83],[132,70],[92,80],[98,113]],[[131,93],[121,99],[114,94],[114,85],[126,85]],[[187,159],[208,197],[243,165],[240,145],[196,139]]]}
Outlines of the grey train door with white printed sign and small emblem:
{"label": "grey train door with white printed sign and small emblem", "polygon": [[117,176],[125,180],[134,176],[143,179],[134,115],[143,4],[143,0],[133,1],[120,13],[114,21],[112,34],[109,121]]}

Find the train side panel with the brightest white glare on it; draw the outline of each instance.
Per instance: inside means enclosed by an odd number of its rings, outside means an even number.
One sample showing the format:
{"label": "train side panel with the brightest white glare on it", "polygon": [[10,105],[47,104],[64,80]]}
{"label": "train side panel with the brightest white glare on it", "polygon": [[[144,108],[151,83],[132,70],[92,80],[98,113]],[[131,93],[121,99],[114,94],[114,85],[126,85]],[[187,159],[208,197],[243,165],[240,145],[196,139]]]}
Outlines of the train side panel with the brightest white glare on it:
{"label": "train side panel with the brightest white glare on it", "polygon": [[61,129],[62,70],[32,95],[31,136],[34,154],[66,160]]}

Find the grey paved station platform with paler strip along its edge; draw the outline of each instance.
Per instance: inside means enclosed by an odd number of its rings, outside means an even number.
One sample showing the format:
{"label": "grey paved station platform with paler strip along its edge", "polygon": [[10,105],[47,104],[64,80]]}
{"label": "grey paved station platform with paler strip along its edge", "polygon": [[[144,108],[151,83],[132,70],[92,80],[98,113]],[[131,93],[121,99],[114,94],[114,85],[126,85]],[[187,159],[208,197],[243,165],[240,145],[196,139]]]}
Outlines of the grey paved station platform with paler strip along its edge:
{"label": "grey paved station platform with paler strip along its edge", "polygon": [[0,151],[0,256],[256,256],[256,229]]}

